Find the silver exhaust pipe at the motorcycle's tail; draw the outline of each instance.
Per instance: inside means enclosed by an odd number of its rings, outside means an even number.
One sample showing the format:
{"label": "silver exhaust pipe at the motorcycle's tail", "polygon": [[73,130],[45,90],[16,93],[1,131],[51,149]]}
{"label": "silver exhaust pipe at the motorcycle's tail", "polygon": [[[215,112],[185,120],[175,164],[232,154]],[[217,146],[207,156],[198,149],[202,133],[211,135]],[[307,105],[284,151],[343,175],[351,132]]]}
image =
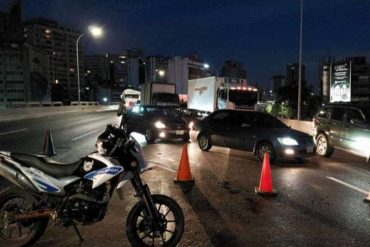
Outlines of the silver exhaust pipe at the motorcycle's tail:
{"label": "silver exhaust pipe at the motorcycle's tail", "polygon": [[9,165],[6,159],[0,157],[0,175],[7,179],[9,182],[33,192],[38,192],[31,181],[19,172],[16,168]]}

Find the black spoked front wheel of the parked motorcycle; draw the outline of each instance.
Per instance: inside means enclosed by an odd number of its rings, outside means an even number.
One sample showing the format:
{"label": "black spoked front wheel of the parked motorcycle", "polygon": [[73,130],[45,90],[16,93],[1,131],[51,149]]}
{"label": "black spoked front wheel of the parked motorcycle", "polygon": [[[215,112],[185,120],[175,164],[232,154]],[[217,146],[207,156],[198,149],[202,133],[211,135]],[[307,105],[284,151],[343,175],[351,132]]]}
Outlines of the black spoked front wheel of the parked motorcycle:
{"label": "black spoked front wheel of the parked motorcycle", "polygon": [[159,228],[154,229],[153,220],[144,200],[131,209],[126,222],[127,238],[132,246],[176,246],[184,232],[184,214],[172,198],[152,195],[158,212]]}

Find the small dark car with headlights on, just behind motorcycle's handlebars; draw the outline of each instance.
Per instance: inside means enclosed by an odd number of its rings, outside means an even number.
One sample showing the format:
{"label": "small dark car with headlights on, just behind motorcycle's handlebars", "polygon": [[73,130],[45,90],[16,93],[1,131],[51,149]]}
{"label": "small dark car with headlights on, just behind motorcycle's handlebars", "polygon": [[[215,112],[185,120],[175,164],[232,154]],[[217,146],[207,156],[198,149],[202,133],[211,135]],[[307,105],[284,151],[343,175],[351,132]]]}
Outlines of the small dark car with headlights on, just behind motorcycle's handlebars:
{"label": "small dark car with headlights on, just behind motorcycle's handlebars", "polygon": [[181,113],[171,106],[137,105],[127,111],[122,128],[128,133],[145,135],[148,143],[156,139],[182,138],[189,140],[189,127]]}

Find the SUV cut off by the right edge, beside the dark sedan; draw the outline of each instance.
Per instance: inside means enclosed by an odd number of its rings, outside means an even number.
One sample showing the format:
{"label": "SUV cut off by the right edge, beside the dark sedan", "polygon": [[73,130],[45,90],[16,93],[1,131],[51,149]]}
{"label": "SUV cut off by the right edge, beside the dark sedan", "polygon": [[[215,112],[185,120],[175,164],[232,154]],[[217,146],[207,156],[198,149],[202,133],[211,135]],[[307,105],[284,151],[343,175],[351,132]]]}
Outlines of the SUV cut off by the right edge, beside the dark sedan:
{"label": "SUV cut off by the right edge, beside the dark sedan", "polygon": [[335,149],[370,156],[370,103],[329,103],[313,118],[317,154],[330,157]]}

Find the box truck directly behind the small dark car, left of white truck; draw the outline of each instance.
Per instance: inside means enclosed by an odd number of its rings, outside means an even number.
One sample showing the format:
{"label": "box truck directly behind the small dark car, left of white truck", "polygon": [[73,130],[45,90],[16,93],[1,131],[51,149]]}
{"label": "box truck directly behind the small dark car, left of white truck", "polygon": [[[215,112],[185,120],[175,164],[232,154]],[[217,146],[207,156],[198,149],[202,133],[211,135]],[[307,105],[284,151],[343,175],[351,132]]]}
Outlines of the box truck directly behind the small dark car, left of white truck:
{"label": "box truck directly behind the small dark car, left of white truck", "polygon": [[140,104],[179,106],[180,99],[176,93],[176,84],[164,82],[148,82],[143,84],[141,87]]}

